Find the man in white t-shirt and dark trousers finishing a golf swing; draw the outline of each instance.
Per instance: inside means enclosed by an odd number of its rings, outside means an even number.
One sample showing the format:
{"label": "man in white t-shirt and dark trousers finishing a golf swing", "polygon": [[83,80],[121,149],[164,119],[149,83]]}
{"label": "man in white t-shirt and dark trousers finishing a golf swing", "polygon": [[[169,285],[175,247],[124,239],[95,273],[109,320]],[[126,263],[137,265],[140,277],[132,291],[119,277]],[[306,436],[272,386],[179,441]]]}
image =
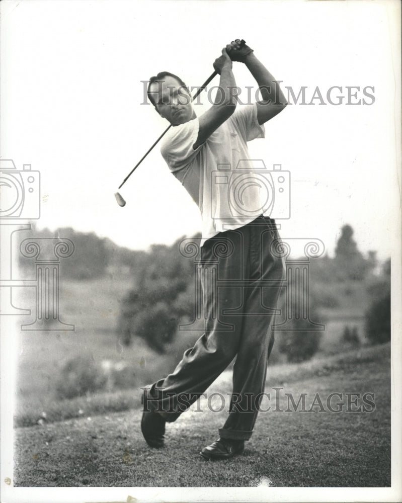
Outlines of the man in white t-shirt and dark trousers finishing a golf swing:
{"label": "man in white t-shirt and dark trousers finishing a golf swing", "polygon": [[[232,61],[250,70],[261,101],[236,107]],[[145,388],[141,431],[149,446],[163,447],[166,422],[175,421],[236,357],[227,420],[219,429],[219,440],[200,453],[206,459],[227,459],[242,452],[253,433],[284,274],[283,259],[272,253],[279,239],[275,220],[264,216],[264,203],[258,203],[266,191],[251,175],[247,142],[264,138],[263,124],[285,108],[286,100],[244,41],[223,48],[213,66],[220,75],[219,88],[214,104],[200,117],[178,76],[161,72],[148,84],[149,100],[173,126],[163,139],[162,155],[201,211],[200,280],[206,321],[205,333],[184,353],[175,371]],[[228,194],[235,190],[228,179],[236,175],[237,166],[242,166],[244,187],[237,195]],[[235,210],[232,196],[238,198]],[[219,288],[209,275],[217,260]],[[272,287],[267,288],[267,281]],[[230,282],[237,282],[236,287]]]}

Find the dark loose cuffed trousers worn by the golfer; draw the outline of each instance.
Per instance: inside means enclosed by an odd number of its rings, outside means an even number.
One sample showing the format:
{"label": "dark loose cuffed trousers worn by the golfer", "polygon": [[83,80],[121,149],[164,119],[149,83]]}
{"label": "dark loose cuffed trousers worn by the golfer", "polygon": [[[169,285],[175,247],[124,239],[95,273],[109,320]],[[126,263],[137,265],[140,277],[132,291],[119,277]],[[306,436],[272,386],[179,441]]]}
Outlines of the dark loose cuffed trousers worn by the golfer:
{"label": "dark loose cuffed trousers worn by the golfer", "polygon": [[200,279],[205,333],[184,353],[172,374],[152,385],[147,409],[168,412],[163,416],[175,421],[236,357],[229,414],[219,435],[251,437],[264,392],[274,343],[271,322],[284,276],[279,242],[275,221],[258,217],[204,243]]}

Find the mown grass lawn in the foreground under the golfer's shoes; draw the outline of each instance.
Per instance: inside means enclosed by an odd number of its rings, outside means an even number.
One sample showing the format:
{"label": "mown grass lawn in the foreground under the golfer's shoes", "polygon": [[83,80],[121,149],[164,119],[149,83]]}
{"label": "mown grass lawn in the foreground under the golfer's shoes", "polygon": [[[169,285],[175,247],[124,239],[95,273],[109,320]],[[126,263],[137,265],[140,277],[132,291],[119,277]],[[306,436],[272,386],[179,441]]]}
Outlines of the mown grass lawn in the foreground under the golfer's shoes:
{"label": "mown grass lawn in the foreground under the golfer's shoes", "polygon": [[[146,445],[139,427],[141,412],[133,408],[16,429],[14,485],[390,486],[389,345],[272,367],[266,391],[273,396],[272,388],[278,386],[283,388],[281,399],[272,399],[270,405],[283,411],[260,412],[244,454],[232,460],[209,462],[199,456],[201,448],[218,437],[227,406],[220,413],[200,413],[192,407],[167,425],[166,447],[160,450]],[[217,391],[230,391],[229,373],[209,389]],[[308,410],[316,393],[327,409],[326,399],[334,392],[341,393],[339,401],[345,403],[347,392],[372,392],[375,410],[285,411],[285,393],[296,401],[307,393]]]}

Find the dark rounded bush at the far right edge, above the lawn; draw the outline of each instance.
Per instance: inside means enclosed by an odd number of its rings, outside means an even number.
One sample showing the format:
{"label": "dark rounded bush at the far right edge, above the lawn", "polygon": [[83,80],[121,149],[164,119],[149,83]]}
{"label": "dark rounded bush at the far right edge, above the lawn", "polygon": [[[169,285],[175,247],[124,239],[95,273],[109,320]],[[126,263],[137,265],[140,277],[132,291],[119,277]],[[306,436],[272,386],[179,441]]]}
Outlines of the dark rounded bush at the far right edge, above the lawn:
{"label": "dark rounded bush at the far right edge, above the lawn", "polygon": [[391,293],[374,300],[366,312],[366,336],[371,344],[391,340]]}

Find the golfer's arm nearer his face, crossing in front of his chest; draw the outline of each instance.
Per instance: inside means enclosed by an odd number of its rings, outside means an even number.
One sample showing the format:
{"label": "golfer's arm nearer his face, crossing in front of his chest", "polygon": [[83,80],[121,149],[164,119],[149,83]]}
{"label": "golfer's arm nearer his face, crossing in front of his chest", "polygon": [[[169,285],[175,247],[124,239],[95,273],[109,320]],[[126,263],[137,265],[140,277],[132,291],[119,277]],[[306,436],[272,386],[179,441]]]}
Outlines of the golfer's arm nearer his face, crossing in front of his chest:
{"label": "golfer's arm nearer his face, crossing in front of his chest", "polygon": [[212,107],[202,114],[199,121],[199,131],[197,140],[193,145],[196,149],[234,112],[237,101],[231,95],[236,86],[232,72],[232,62],[229,58],[226,48],[222,49],[222,55],[217,58],[213,64],[215,70],[220,74],[219,89],[216,94],[215,103]]}

